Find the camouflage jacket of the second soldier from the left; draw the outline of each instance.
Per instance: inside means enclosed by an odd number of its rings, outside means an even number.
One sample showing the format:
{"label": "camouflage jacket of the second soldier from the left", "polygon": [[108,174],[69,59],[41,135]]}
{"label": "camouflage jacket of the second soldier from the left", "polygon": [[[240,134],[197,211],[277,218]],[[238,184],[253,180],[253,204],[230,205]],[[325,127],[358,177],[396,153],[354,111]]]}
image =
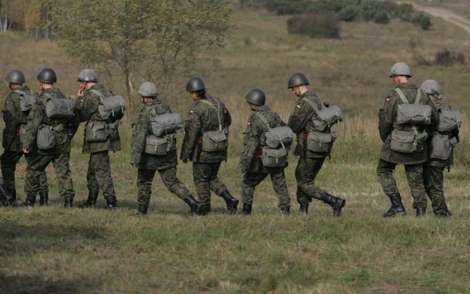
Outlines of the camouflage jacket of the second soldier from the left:
{"label": "camouflage jacket of the second soldier from the left", "polygon": [[[22,134],[23,148],[28,148],[33,153],[40,155],[56,155],[70,152],[70,140],[78,128],[78,116],[74,118],[48,118],[46,116],[46,102],[52,98],[70,99],[58,88],[44,90],[36,98],[28,116],[28,123],[25,126],[25,133]],[[36,145],[36,135],[41,124],[54,127],[56,135],[56,147],[48,150],[38,149]]]}

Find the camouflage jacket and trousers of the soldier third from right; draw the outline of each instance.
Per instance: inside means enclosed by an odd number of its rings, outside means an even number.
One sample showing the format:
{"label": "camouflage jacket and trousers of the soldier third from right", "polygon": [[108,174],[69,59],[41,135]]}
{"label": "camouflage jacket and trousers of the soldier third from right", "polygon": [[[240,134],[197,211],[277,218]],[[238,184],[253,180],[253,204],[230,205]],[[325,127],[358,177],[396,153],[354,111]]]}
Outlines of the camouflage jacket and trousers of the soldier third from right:
{"label": "camouflage jacket and trousers of the soldier third from right", "polygon": [[316,110],[305,99],[310,100],[310,103],[313,103],[317,109],[323,107],[322,101],[315,93],[306,92],[299,97],[288,122],[288,126],[297,134],[294,155],[299,156],[299,159],[295,169],[295,179],[297,180],[297,202],[301,205],[308,205],[312,198],[318,200],[325,198],[326,192],[315,184],[315,177],[331,151],[330,149],[328,152],[319,153],[306,148],[307,133],[314,129],[312,116]]}

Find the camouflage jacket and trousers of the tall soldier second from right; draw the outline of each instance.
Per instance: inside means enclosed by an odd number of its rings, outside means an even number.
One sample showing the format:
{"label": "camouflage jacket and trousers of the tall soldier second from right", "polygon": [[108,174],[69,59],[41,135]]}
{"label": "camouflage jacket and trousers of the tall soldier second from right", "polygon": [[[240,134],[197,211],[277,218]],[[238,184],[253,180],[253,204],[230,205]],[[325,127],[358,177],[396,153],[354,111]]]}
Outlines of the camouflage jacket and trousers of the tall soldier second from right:
{"label": "camouflage jacket and trousers of the tall soldier second from right", "polygon": [[[397,86],[405,94],[410,104],[414,103],[417,95],[417,87],[411,83],[402,83]],[[419,91],[421,91],[419,89]],[[421,93],[419,100],[420,105],[430,104],[429,98]],[[393,129],[412,131],[412,125],[400,125],[396,121],[397,107],[403,102],[400,100],[396,91],[392,90],[385,97],[383,107],[379,110],[379,132],[382,141],[382,149],[380,150],[380,159],[377,165],[377,175],[380,184],[389,197],[400,195],[397,183],[393,178],[393,171],[397,164],[405,165],[405,173],[407,175],[408,184],[411,188],[411,196],[413,197],[413,208],[424,209],[427,206],[426,193],[422,180],[422,164],[427,161],[427,145],[417,148],[415,152],[404,153],[392,150],[391,134]],[[437,113],[433,110],[432,122],[437,120]],[[422,130],[422,126],[417,126],[418,130]]]}

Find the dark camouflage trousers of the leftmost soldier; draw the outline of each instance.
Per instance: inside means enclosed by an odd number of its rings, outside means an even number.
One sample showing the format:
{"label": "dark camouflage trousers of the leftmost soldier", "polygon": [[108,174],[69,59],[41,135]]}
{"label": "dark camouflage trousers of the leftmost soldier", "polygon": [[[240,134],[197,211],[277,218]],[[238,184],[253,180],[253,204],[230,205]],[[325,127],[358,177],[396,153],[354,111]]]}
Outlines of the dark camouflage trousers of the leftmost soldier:
{"label": "dark camouflage trousers of the leftmost soldier", "polygon": [[[23,156],[23,152],[7,151],[5,150],[0,157],[1,160],[1,175],[3,177],[3,184],[8,190],[15,190],[15,171],[16,164]],[[29,161],[30,155],[24,154],[26,162]],[[48,192],[49,187],[47,185],[46,172],[43,171],[39,176],[39,189],[38,192]]]}

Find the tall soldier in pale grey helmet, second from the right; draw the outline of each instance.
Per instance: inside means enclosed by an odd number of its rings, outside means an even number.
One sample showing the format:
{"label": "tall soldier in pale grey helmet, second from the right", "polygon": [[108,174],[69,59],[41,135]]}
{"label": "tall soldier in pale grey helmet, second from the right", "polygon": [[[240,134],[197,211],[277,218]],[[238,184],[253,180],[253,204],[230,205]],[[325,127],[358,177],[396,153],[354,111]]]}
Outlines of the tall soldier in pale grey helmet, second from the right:
{"label": "tall soldier in pale grey helmet, second from the right", "polygon": [[[389,77],[393,79],[396,87],[387,94],[384,105],[379,110],[379,132],[384,144],[380,150],[377,175],[385,194],[390,198],[392,204],[390,209],[383,214],[383,217],[406,214],[397,183],[393,178],[393,171],[397,164],[405,165],[405,173],[413,197],[413,208],[416,209],[416,216],[423,216],[427,206],[422,180],[422,164],[427,161],[426,129],[421,125],[399,124],[397,109],[400,104],[405,103],[404,100],[409,104],[415,104],[415,101],[418,100],[418,105],[427,105],[429,104],[429,98],[416,85],[408,81],[411,78],[411,70],[408,64],[404,62],[395,63],[390,70]],[[432,121],[436,121],[436,117],[437,114],[433,111]],[[398,142],[398,135],[397,139],[392,140],[394,132],[395,134],[411,134],[410,140],[402,140],[402,142],[409,141],[411,143],[412,148],[410,151],[398,151],[399,148],[392,147],[392,144],[395,146],[395,142]],[[398,144],[405,146],[402,143]]]}

